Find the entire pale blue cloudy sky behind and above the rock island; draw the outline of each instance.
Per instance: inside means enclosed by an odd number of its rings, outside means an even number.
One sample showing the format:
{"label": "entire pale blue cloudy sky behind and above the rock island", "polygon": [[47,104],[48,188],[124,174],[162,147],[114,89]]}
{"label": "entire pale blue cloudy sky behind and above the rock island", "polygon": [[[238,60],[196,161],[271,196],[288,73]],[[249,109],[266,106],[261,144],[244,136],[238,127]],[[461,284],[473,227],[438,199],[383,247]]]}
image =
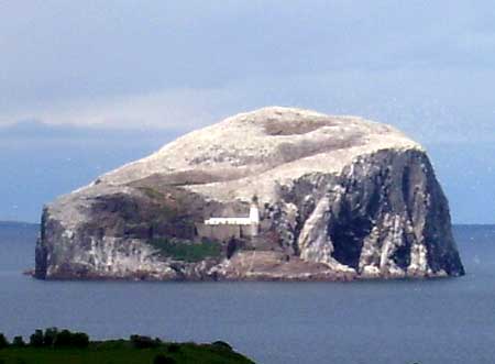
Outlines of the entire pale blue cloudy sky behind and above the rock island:
{"label": "entire pale blue cloudy sky behind and above the rock island", "polygon": [[495,223],[494,65],[493,1],[0,0],[0,220],[279,104],[399,128]]}

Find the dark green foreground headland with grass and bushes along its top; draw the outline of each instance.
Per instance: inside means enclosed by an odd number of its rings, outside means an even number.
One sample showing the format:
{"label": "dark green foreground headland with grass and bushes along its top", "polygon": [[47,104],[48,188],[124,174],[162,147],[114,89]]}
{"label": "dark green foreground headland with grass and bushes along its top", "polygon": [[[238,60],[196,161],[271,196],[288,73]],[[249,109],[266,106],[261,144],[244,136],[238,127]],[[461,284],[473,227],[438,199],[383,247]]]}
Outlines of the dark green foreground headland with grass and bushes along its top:
{"label": "dark green foreground headland with grass and bushes along its top", "polygon": [[[80,340],[85,339],[85,340]],[[212,344],[170,343],[150,337],[89,341],[86,333],[56,328],[36,330],[24,343],[0,333],[0,364],[253,364],[221,341]]]}

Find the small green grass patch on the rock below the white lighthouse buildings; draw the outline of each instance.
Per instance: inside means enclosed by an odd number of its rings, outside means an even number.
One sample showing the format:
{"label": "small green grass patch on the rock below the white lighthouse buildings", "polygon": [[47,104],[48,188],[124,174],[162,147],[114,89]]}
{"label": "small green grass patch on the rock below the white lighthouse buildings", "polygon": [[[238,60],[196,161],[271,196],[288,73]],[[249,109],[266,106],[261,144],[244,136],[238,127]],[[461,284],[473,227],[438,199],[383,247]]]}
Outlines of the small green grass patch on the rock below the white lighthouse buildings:
{"label": "small green grass patch on the rock below the white lighthouse buildings", "polygon": [[199,262],[207,257],[219,257],[222,253],[221,244],[210,241],[194,243],[179,239],[152,239],[148,243],[156,247],[162,256],[189,263]]}

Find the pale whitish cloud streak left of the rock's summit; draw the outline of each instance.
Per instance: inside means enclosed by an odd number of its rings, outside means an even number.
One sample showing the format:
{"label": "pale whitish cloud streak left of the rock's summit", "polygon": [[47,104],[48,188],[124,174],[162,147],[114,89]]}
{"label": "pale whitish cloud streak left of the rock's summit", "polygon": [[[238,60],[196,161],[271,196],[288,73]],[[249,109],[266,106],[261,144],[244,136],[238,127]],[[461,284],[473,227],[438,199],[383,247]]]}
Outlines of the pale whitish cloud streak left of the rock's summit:
{"label": "pale whitish cloud streak left of the rock's summit", "polygon": [[211,123],[223,90],[180,89],[145,95],[78,99],[46,104],[4,115],[11,120],[36,119],[50,124],[113,129],[190,130]]}

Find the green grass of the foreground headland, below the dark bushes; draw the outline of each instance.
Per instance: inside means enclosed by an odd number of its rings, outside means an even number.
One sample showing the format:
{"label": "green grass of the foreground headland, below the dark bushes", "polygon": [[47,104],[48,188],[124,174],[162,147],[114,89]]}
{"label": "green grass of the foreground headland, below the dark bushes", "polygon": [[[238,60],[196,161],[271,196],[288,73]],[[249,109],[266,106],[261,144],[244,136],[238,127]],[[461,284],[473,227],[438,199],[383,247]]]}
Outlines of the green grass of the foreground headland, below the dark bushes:
{"label": "green grass of the foreground headland, below the dark bushes", "polygon": [[129,341],[92,342],[88,349],[6,348],[0,349],[1,364],[153,364],[164,354],[177,364],[250,364],[245,356],[212,344],[178,344],[170,352],[169,344],[135,349]]}

